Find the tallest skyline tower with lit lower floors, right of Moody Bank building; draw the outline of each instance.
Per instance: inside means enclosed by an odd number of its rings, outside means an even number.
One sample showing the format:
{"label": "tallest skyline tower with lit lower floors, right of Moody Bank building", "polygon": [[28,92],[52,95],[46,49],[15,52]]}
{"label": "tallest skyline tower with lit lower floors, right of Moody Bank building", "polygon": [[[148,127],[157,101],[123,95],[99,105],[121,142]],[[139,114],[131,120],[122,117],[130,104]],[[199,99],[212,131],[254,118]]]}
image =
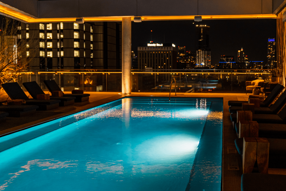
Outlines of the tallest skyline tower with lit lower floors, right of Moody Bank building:
{"label": "tallest skyline tower with lit lower floors, right of Moody Bank building", "polygon": [[210,27],[207,25],[196,25],[198,48],[196,50],[196,67],[211,67],[210,48],[208,47],[208,34]]}

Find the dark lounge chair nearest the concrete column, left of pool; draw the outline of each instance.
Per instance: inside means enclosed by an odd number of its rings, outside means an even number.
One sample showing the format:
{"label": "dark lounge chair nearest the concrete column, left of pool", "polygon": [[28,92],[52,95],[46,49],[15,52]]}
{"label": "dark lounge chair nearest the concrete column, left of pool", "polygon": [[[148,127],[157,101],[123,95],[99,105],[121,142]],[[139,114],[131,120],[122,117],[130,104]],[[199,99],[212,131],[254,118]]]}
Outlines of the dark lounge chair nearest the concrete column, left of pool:
{"label": "dark lounge chair nearest the concrete column, left of pool", "polygon": [[[61,91],[55,80],[44,80],[44,83],[50,92]],[[76,97],[75,102],[83,102],[89,100],[90,94],[63,94],[63,96],[73,96]]]}

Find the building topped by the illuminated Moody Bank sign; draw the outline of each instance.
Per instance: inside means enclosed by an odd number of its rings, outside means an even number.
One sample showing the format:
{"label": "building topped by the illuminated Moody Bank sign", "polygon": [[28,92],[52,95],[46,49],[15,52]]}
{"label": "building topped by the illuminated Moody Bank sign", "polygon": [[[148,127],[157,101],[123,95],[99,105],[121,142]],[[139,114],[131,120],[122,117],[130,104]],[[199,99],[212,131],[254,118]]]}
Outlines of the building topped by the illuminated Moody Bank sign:
{"label": "building topped by the illuminated Moody Bank sign", "polygon": [[177,49],[174,44],[148,43],[138,46],[138,69],[177,69]]}

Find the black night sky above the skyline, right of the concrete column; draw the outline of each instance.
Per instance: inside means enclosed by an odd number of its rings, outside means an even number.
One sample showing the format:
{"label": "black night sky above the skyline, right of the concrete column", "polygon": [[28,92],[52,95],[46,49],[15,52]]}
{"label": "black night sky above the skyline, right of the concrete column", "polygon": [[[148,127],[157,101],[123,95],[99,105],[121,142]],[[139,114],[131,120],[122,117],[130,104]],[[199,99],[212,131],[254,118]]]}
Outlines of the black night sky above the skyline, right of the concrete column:
{"label": "black night sky above the skyline, right of the concrete column", "polygon": [[221,55],[234,56],[243,48],[249,61],[267,62],[268,38],[276,41],[276,19],[229,19],[189,21],[142,21],[132,22],[132,51],[151,40],[155,43],[174,43],[186,46],[186,51],[196,50],[195,25],[210,26],[209,46],[211,63],[219,62]]}

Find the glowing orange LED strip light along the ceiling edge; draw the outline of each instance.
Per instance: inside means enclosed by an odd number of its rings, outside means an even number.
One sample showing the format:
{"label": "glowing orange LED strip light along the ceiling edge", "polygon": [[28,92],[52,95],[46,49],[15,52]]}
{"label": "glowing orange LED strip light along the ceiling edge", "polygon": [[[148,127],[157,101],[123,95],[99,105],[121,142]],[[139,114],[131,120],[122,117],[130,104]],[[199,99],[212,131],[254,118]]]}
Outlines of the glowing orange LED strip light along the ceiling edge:
{"label": "glowing orange LED strip light along the ceiling edge", "polygon": [[[72,18],[43,18],[36,19],[31,16],[20,13],[14,9],[0,5],[0,12],[4,15],[10,15],[27,23],[40,22],[74,22],[76,17]],[[131,17],[133,20],[134,17]],[[274,14],[258,15],[202,15],[202,19],[276,19]],[[142,16],[143,21],[167,21],[167,20],[194,20],[194,15],[187,16]],[[84,17],[84,21],[122,21],[122,17]]]}

